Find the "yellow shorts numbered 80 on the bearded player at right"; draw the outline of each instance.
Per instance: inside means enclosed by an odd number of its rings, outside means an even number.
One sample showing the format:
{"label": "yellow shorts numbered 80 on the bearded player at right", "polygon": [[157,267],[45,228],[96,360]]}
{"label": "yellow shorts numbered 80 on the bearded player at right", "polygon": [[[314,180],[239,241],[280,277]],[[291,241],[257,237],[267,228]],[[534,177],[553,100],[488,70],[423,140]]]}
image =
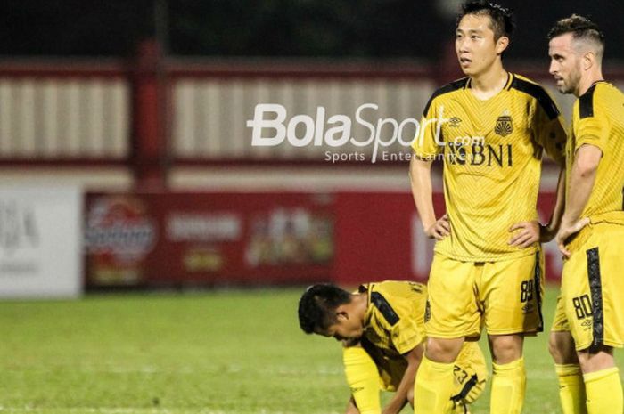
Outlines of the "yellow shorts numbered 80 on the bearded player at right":
{"label": "yellow shorts numbered 80 on the bearded player at right", "polygon": [[567,246],[553,330],[570,330],[577,350],[624,346],[624,225],[589,224]]}

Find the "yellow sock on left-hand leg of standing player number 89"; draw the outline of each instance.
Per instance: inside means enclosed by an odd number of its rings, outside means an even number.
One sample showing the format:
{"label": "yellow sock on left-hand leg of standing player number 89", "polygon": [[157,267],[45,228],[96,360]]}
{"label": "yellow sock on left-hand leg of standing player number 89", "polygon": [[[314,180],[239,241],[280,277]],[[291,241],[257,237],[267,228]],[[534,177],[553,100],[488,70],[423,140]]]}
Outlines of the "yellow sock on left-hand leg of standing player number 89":
{"label": "yellow sock on left-hand leg of standing player number 89", "polygon": [[455,386],[453,367],[453,363],[439,363],[423,357],[414,385],[415,414],[446,414],[451,410]]}

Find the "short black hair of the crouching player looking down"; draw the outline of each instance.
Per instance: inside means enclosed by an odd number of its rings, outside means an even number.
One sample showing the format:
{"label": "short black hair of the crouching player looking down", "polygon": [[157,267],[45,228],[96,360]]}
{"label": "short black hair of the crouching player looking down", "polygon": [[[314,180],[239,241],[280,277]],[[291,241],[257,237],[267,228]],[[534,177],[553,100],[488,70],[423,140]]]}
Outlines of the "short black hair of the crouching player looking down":
{"label": "short black hair of the crouching player looking down", "polygon": [[349,304],[351,294],[331,283],[312,285],[299,300],[299,325],[307,334],[329,328],[338,321],[336,308]]}

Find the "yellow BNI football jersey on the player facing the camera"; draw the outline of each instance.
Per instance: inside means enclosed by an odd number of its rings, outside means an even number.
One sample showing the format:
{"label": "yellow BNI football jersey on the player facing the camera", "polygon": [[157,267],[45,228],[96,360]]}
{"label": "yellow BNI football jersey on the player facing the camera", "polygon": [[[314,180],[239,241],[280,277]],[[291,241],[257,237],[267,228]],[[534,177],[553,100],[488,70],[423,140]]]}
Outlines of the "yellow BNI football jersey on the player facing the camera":
{"label": "yellow BNI football jersey on the player facing the camera", "polygon": [[469,77],[433,93],[413,148],[418,158],[444,161],[451,234],[436,252],[466,262],[534,254],[538,246],[509,246],[509,228],[538,219],[543,151],[563,165],[565,142],[554,101],[525,77],[510,73],[486,101],[471,92]]}

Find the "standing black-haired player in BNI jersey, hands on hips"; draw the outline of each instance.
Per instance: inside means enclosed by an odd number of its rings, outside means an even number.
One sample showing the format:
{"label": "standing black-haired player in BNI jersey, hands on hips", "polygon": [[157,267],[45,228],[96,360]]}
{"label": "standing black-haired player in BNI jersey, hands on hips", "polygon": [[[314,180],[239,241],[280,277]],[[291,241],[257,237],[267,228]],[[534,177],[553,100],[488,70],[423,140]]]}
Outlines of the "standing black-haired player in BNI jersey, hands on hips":
{"label": "standing black-haired player in BNI jersey, hands on hips", "polygon": [[[493,360],[490,412],[520,413],[524,337],[543,329],[539,242],[554,237],[562,202],[551,223],[540,226],[541,159],[546,150],[563,169],[566,134],[546,91],[503,67],[512,32],[506,9],[464,4],[456,53],[467,77],[433,93],[414,143],[415,205],[424,231],[438,240],[428,283],[427,346],[415,381],[416,414],[447,410],[453,363],[464,340],[479,337],[482,326]],[[444,162],[447,209],[440,218],[431,201],[431,162],[437,158]]]}

